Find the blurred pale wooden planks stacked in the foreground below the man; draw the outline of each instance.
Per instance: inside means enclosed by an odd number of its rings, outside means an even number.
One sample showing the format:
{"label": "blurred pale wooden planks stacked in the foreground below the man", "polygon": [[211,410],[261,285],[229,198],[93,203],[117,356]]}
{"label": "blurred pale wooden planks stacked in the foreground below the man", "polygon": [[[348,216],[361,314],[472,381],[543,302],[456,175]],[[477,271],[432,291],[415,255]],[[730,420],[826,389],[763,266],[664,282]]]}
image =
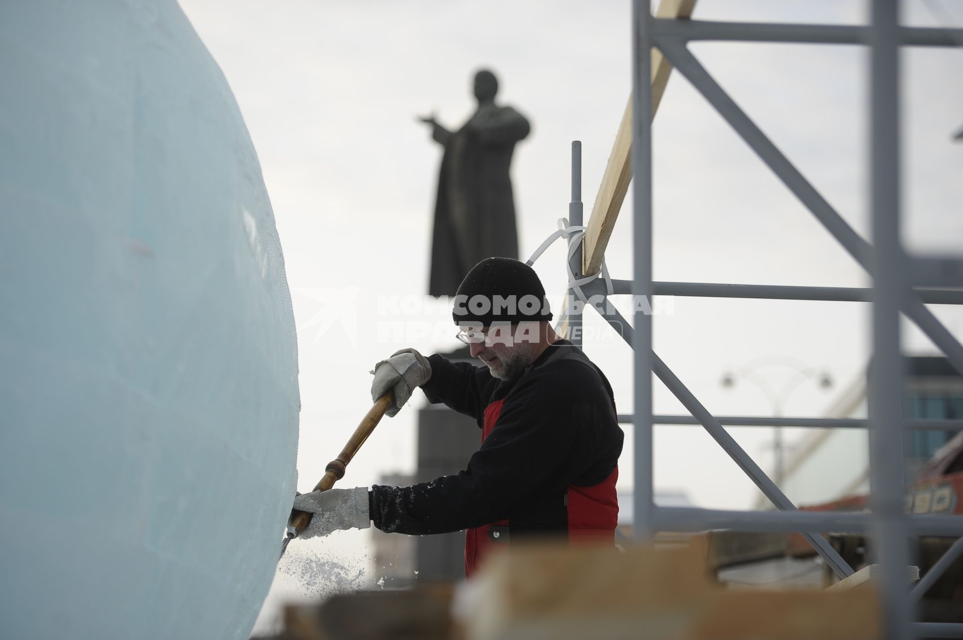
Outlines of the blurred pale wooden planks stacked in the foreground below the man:
{"label": "blurred pale wooden planks stacked in the foreground below the man", "polygon": [[705,552],[525,547],[485,559],[455,597],[472,640],[878,640],[875,590],[730,591],[705,576]]}

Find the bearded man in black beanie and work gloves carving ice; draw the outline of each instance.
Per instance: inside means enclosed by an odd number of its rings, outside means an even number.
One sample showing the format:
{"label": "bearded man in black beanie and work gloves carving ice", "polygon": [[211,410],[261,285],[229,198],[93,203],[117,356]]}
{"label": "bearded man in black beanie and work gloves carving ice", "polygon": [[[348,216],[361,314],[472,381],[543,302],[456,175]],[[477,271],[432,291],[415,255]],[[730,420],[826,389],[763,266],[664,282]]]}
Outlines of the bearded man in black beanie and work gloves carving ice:
{"label": "bearded man in black beanie and work gloves carving ice", "polygon": [[509,258],[481,261],[458,287],[453,316],[484,366],[403,349],[377,364],[372,397],[393,390],[395,415],[421,386],[430,402],[478,421],[481,448],[464,471],[430,482],[300,496],[295,508],[315,514],[303,535],[370,521],[408,534],[467,529],[467,576],[488,550],[526,536],[613,546],[622,431],[612,387],[552,330],[534,270]]}

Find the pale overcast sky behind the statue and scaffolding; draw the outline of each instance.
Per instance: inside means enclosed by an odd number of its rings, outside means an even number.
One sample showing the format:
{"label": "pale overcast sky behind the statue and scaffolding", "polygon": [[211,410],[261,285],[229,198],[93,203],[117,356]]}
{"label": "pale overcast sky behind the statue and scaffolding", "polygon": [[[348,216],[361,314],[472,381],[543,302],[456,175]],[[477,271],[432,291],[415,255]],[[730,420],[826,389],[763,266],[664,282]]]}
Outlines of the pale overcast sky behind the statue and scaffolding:
{"label": "pale overcast sky behind the statue and scaffolding", "polygon": [[[499,100],[533,122],[512,166],[526,258],[567,215],[573,140],[584,143],[586,217],[591,210],[630,90],[630,5],[180,4],[234,90],[273,202],[299,326],[299,488],[309,490],[369,408],[368,371],[377,360],[403,346],[425,352],[456,346],[444,310],[437,336],[379,335],[384,322],[395,320],[385,313],[390,307],[383,296],[423,295],[428,287],[441,151],[415,116],[433,112],[449,127],[460,126],[474,108],[474,71],[487,66],[498,74]],[[865,21],[865,4],[700,0],[695,17],[853,24]],[[963,12],[946,0],[911,2],[904,22],[958,26]],[[736,43],[698,43],[692,51],[843,218],[869,237],[866,52]],[[916,252],[958,251],[963,241],[963,143],[950,140],[963,125],[961,56],[916,49],[902,59],[903,237]],[[863,270],[678,74],[656,118],[655,163],[657,280],[867,284]],[[631,277],[630,206],[631,198],[608,252],[613,277]],[[536,269],[546,289],[561,294],[560,243]],[[933,310],[957,337],[963,334],[963,315]],[[785,407],[789,415],[820,415],[865,367],[867,311],[852,303],[676,298],[674,313],[655,319],[655,349],[717,415],[771,413],[751,384],[721,387],[731,368],[777,356],[828,371],[834,389],[802,384]],[[933,350],[912,327],[905,345],[912,352]],[[631,351],[612,340],[588,342],[586,351],[612,380],[620,411],[631,411]],[[774,384],[792,375],[780,367],[760,373]],[[378,427],[343,486],[414,469],[414,422],[424,402],[416,394],[412,406]],[[682,413],[659,383],[655,402],[659,413]],[[768,430],[734,433],[771,468]],[[658,428],[655,458],[657,488],[685,490],[698,505],[744,508],[754,496],[749,480],[700,429]],[[620,489],[631,491],[631,455],[623,455],[620,467]],[[367,533],[347,532],[316,548],[337,550],[347,564],[360,566],[367,540]],[[270,602],[293,588],[275,582]]]}

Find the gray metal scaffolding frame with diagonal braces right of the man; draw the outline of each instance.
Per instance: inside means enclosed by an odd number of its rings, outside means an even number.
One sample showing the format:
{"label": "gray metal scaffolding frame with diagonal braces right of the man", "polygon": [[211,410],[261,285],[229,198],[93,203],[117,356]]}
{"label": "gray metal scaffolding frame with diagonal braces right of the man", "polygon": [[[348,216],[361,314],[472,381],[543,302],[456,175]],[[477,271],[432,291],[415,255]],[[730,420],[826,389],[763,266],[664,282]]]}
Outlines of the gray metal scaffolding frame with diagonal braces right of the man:
{"label": "gray metal scaffolding frame with diagonal braces right of the man", "polygon": [[[899,111],[898,53],[901,46],[956,47],[963,42],[963,29],[908,28],[898,25],[898,0],[871,0],[869,26],[726,23],[688,19],[694,0],[664,0],[654,17],[649,0],[633,2],[633,93],[631,102],[631,166],[634,194],[633,279],[596,279],[585,282],[583,265],[588,260],[570,257],[568,269],[581,279],[577,292],[594,304],[596,311],[616,328],[635,351],[635,413],[620,415],[620,422],[635,427],[634,532],[637,540],[651,540],[660,530],[698,531],[711,528],[737,528],[748,531],[798,531],[837,576],[852,574],[852,569],[834,550],[820,531],[865,531],[876,541],[877,562],[881,565],[883,611],[888,637],[911,638],[963,637],[963,625],[914,623],[913,607],[924,591],[963,553],[963,538],[936,563],[908,593],[906,566],[909,564],[910,535],[960,536],[963,516],[916,515],[903,511],[902,474],[903,429],[946,428],[963,430],[963,421],[906,421],[902,416],[902,355],[899,346],[900,312],[913,320],[924,334],[946,354],[952,366],[963,373],[963,346],[950,334],[925,304],[963,304],[963,262],[958,259],[917,258],[907,255],[898,237],[899,219]],[[681,18],[681,19],[676,19]],[[872,244],[861,238],[832,206],[816,191],[768,137],[729,97],[706,68],[688,49],[691,40],[729,40],[747,42],[832,43],[869,46],[870,116],[872,125],[871,202]],[[652,133],[651,122],[662,88],[654,95],[653,50],[685,75],[722,115],[728,124],[756,152],[760,159],[794,193],[846,251],[872,275],[872,288],[784,287],[740,284],[711,284],[652,281]],[[664,64],[660,60],[659,64]],[[662,79],[664,88],[664,78]],[[653,103],[655,97],[656,102]],[[624,120],[623,120],[623,126]],[[616,141],[616,147],[619,141]],[[581,143],[572,145],[572,201],[569,221],[573,227],[583,222]],[[612,158],[616,157],[613,148]],[[612,165],[612,159],[610,159]],[[608,171],[612,167],[607,168]],[[603,178],[603,189],[607,178]],[[603,192],[600,189],[600,194]],[[617,191],[617,189],[616,189]],[[620,196],[612,197],[618,200]],[[614,205],[617,215],[619,202]],[[596,202],[598,206],[598,201]],[[608,203],[606,207],[608,207]],[[607,215],[603,212],[602,215]],[[611,214],[609,214],[611,215]],[[593,212],[593,217],[595,212]],[[610,222],[610,225],[612,222]],[[590,226],[590,224],[589,224]],[[610,226],[611,228],[611,226]],[[604,234],[603,234],[604,235]],[[572,243],[584,238],[569,237]],[[583,245],[581,253],[604,251],[608,238],[599,246]],[[597,269],[595,269],[597,271]],[[570,287],[572,285],[570,284]],[[924,287],[956,287],[925,289]],[[831,300],[870,302],[872,304],[872,370],[870,372],[868,420],[749,417],[714,417],[686,385],[652,350],[652,317],[644,305],[634,305],[633,323],[607,303],[608,294],[632,294],[635,300],[653,295],[694,295],[792,300]],[[578,327],[582,309],[566,296],[566,329],[573,342],[581,345]],[[651,308],[651,307],[650,307]],[[576,328],[575,332],[571,332]],[[663,381],[690,416],[656,416],[652,409],[652,376]],[[701,424],[716,442],[763,491],[778,511],[723,511],[701,508],[661,507],[653,499],[653,424]],[[723,424],[749,426],[803,426],[819,428],[869,428],[872,514],[841,512],[800,512],[736,441]]]}

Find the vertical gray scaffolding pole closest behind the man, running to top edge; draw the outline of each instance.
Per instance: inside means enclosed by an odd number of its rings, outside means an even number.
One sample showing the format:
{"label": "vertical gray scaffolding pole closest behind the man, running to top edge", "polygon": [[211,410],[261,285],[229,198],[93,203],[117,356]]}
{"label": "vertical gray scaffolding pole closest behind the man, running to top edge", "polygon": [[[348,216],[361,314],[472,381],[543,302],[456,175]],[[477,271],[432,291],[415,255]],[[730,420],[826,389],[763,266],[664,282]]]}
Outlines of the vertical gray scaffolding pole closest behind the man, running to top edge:
{"label": "vertical gray scaffolding pole closest behind the man, running to top edge", "polygon": [[638,303],[652,299],[652,41],[649,0],[632,3],[632,261],[635,351],[635,488],[633,534],[651,540],[654,478],[652,474],[652,316]]}

